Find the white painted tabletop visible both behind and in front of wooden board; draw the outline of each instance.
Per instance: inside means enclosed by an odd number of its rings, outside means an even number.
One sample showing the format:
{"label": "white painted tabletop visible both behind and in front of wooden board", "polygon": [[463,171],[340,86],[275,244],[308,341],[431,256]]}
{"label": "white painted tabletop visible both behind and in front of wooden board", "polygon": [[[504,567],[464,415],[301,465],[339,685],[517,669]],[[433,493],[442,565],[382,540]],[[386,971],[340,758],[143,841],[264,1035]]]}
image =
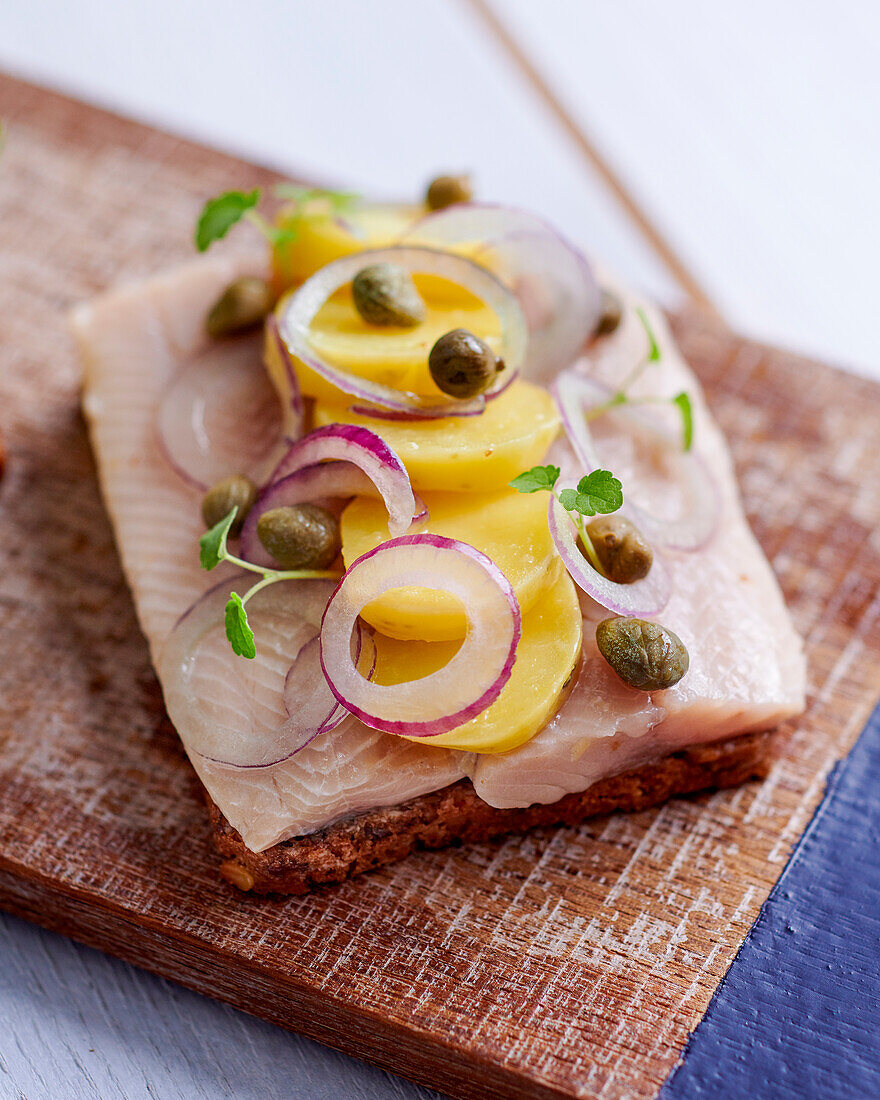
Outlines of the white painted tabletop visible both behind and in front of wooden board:
{"label": "white painted tabletop visible both behind and in front of wooden board", "polygon": [[[371,195],[470,169],[662,300],[880,377],[879,40],[870,0],[0,6],[0,67]],[[2,1098],[432,1094],[2,915],[0,959]]]}

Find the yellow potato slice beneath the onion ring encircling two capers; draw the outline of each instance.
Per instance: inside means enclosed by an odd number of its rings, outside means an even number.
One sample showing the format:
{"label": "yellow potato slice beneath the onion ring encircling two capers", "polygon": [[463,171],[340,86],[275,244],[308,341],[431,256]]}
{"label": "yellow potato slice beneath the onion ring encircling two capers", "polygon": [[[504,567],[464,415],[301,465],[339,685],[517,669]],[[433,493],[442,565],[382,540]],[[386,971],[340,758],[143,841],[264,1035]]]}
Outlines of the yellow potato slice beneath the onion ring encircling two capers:
{"label": "yellow potato slice beneath the onion ring encircling two capers", "polygon": [[[437,275],[415,275],[414,282],[427,307],[427,316],[413,328],[377,326],[365,321],[352,301],[351,286],[340,287],[321,306],[311,323],[310,343],[316,354],[360,378],[430,394],[442,402],[428,370],[428,355],[435,343],[452,329],[477,333],[497,353],[501,348],[501,322],[495,312],[470,290]],[[287,296],[276,311],[285,308]],[[278,349],[266,345],[266,353],[278,356]],[[307,397],[326,402],[345,399],[331,382],[295,360],[299,386]],[[270,371],[273,367],[270,364]],[[277,365],[275,366],[277,370]],[[355,398],[349,397],[349,400]]]}

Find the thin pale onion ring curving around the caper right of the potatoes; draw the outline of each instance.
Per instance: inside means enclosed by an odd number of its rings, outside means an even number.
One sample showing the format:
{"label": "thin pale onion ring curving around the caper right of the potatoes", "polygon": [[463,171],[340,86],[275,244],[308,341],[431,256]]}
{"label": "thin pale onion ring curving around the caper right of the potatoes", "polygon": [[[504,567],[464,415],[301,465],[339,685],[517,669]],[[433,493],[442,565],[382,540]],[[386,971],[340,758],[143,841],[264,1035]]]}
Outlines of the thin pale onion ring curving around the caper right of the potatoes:
{"label": "thin pale onion ring curving around the caper right of the potatoes", "polygon": [[672,573],[659,553],[654,553],[650,572],[641,581],[617,584],[603,576],[581,553],[578,547],[578,528],[554,496],[550,497],[547,521],[571,579],[597,604],[607,607],[615,615],[644,616],[657,615],[669,603],[672,595]]}

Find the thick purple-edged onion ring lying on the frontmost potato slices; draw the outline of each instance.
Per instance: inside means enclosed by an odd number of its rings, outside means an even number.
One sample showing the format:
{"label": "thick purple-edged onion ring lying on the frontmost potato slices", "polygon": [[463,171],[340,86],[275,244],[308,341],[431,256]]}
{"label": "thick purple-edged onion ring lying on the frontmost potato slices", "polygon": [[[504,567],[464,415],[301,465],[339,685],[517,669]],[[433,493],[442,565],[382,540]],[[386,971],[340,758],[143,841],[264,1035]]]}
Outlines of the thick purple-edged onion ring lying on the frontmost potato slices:
{"label": "thick purple-edged onion ring lying on the frontmost potato slices", "polygon": [[[450,592],[468,615],[461,649],[438,672],[395,685],[370,683],[351,658],[361,610],[389,588]],[[346,570],[321,623],[321,666],[330,691],[365,725],[406,737],[436,737],[495,702],[510,679],[522,630],[513,586],[481,551],[440,535],[383,542]]]}

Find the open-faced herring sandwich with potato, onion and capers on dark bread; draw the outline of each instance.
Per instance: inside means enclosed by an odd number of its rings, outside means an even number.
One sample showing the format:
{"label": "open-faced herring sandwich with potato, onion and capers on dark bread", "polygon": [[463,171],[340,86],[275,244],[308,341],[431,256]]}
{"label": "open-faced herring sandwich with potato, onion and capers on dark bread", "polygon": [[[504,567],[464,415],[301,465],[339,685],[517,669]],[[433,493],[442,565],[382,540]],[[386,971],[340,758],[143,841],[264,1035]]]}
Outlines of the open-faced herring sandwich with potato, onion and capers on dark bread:
{"label": "open-faced herring sandwich with potato, onion and capers on dark bread", "polygon": [[762,774],[802,646],[663,316],[540,219],[280,188],[80,306],[85,410],[235,886]]}

